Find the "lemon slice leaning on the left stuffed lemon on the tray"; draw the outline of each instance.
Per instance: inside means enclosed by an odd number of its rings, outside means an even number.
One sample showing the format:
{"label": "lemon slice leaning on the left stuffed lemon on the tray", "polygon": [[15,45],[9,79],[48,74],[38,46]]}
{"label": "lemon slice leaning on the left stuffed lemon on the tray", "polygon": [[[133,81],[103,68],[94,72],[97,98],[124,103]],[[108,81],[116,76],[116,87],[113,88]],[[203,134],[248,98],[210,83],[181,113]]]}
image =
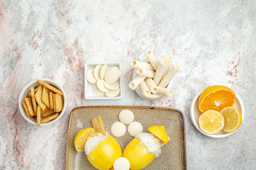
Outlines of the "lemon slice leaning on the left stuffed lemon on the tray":
{"label": "lemon slice leaning on the left stuffed lemon on the tray", "polygon": [[77,152],[85,151],[84,150],[85,142],[87,141],[90,134],[92,134],[93,132],[94,132],[93,128],[85,128],[83,130],[80,130],[80,132],[77,133],[75,137],[75,142],[74,142]]}

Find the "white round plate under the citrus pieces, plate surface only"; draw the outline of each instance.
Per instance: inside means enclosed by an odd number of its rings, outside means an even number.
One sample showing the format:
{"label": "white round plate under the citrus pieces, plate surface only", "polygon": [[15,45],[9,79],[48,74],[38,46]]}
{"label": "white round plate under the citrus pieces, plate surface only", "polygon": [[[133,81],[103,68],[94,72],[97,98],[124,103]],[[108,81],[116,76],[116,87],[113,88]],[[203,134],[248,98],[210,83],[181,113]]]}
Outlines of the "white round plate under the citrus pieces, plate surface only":
{"label": "white round plate under the citrus pieces, plate surface only", "polygon": [[[229,135],[232,135],[234,132],[231,132],[231,133],[225,133],[223,132],[223,130],[221,130],[220,132],[218,133],[215,133],[213,135],[209,135],[205,132],[203,132],[200,127],[199,127],[199,124],[198,124],[198,119],[199,119],[199,116],[201,115],[201,112],[200,110],[198,109],[198,98],[199,96],[201,95],[203,90],[201,90],[200,92],[198,92],[195,97],[192,99],[192,102],[191,102],[191,105],[190,105],[190,119],[193,123],[193,125],[195,126],[195,128],[200,132],[202,133],[203,135],[206,135],[208,137],[214,137],[214,138],[222,138],[222,137],[227,137]],[[240,113],[242,114],[242,122],[243,122],[243,119],[244,119],[244,116],[245,116],[245,108],[244,108],[244,105],[243,105],[243,102],[241,100],[241,98],[236,94],[236,102],[234,104],[235,108],[237,108]]]}

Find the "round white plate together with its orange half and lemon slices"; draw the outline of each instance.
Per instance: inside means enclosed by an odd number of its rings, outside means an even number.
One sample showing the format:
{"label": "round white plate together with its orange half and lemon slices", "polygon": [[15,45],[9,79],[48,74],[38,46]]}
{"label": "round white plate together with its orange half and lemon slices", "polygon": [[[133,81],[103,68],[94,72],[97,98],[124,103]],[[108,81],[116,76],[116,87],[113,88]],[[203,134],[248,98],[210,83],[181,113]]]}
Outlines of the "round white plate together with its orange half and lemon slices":
{"label": "round white plate together with its orange half and lemon slices", "polygon": [[190,118],[202,134],[222,138],[233,134],[242,124],[245,108],[231,88],[213,85],[198,92],[190,105]]}

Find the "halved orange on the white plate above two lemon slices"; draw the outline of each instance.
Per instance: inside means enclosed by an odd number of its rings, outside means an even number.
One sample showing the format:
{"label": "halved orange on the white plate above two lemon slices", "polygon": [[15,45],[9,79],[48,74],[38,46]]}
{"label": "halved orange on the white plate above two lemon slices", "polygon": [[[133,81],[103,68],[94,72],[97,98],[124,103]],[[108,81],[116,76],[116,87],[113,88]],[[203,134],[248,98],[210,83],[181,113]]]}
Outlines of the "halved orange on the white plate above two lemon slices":
{"label": "halved orange on the white plate above two lemon slices", "polygon": [[225,107],[231,107],[236,101],[236,94],[231,88],[222,85],[213,85],[205,88],[199,99],[198,108],[204,113],[207,110],[220,112]]}

